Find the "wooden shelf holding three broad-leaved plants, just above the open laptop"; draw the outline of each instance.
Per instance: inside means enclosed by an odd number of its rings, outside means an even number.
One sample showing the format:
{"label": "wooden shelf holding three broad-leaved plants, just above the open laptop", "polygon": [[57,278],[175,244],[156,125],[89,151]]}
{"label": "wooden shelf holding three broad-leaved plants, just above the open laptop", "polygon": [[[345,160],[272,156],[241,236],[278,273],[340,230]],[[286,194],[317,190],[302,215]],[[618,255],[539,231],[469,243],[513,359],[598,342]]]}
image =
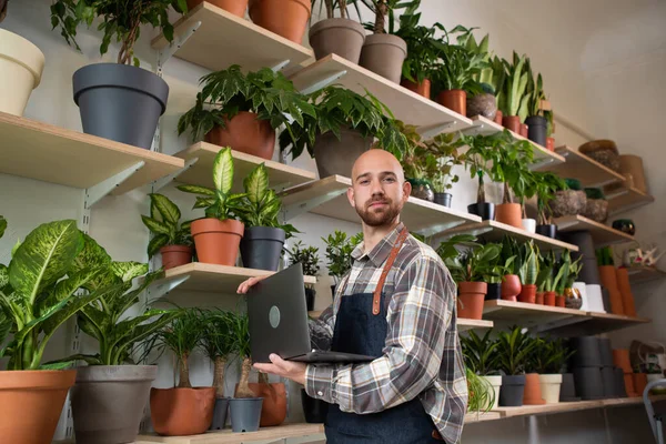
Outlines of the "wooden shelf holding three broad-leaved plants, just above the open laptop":
{"label": "wooden shelf holding three broad-leaved plants, just above the open laptop", "polygon": [[[239,285],[246,279],[271,274],[274,274],[274,272],[192,262],[167,270],[164,279],[155,282],[155,285],[189,276],[186,281],[178,285],[178,290],[235,294]],[[304,276],[304,280],[307,284],[316,283],[316,278],[313,276]]]}

